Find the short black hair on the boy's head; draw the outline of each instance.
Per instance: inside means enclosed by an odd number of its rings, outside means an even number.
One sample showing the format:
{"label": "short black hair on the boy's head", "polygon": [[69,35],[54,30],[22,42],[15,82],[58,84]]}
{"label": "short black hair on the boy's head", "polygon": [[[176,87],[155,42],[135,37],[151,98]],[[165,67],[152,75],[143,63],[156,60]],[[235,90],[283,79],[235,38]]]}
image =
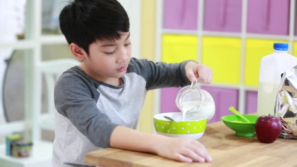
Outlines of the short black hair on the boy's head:
{"label": "short black hair on the boy's head", "polygon": [[67,42],[76,43],[89,54],[89,45],[97,40],[119,40],[129,32],[129,18],[117,0],[74,0],[59,16]]}

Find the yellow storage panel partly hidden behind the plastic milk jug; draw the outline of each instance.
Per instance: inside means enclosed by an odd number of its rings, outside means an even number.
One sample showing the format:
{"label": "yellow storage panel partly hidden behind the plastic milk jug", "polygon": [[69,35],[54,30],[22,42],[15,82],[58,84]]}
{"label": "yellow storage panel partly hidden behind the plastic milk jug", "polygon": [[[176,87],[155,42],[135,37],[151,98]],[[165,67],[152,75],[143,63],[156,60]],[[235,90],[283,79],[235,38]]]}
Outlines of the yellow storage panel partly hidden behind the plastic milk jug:
{"label": "yellow storage panel partly hidden behind the plastic milk jug", "polygon": [[246,86],[258,86],[260,61],[262,57],[274,53],[273,44],[275,42],[288,43],[279,40],[246,40],[244,84]]}

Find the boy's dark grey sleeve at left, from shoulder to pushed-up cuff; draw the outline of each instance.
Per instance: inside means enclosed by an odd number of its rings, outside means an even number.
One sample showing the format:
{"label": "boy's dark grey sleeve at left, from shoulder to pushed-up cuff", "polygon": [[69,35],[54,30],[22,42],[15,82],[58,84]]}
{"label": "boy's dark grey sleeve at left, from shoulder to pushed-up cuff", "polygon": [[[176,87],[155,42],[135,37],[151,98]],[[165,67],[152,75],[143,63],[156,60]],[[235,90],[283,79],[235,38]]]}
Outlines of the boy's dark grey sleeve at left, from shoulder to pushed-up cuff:
{"label": "boy's dark grey sleeve at left, from shoulder to pushed-up cuff", "polygon": [[119,125],[97,108],[94,99],[99,95],[93,94],[96,90],[90,92],[87,87],[94,86],[86,83],[77,77],[64,75],[55,85],[55,106],[93,145],[106,148],[112,131]]}

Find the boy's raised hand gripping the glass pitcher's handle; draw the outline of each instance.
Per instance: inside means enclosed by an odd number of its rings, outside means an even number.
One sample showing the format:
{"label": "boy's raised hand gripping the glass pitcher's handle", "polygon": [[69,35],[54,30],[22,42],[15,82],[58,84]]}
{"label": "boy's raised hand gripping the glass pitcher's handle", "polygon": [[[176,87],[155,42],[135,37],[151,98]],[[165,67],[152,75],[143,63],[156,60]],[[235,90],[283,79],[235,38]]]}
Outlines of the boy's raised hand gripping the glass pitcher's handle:
{"label": "boy's raised hand gripping the glass pitcher's handle", "polygon": [[212,69],[205,65],[199,64],[194,61],[189,61],[186,66],[186,75],[191,82],[195,82],[195,78],[201,84],[211,84],[212,83]]}

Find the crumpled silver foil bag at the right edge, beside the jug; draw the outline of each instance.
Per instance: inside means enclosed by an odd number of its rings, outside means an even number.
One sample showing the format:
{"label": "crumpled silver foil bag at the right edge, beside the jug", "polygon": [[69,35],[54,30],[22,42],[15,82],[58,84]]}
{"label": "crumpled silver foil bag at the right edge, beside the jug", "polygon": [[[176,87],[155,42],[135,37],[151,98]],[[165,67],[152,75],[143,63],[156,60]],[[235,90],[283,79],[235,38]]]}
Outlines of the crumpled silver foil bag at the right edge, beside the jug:
{"label": "crumpled silver foil bag at the right edge, beside the jug", "polygon": [[282,119],[280,137],[297,139],[297,66],[282,74],[275,115]]}

